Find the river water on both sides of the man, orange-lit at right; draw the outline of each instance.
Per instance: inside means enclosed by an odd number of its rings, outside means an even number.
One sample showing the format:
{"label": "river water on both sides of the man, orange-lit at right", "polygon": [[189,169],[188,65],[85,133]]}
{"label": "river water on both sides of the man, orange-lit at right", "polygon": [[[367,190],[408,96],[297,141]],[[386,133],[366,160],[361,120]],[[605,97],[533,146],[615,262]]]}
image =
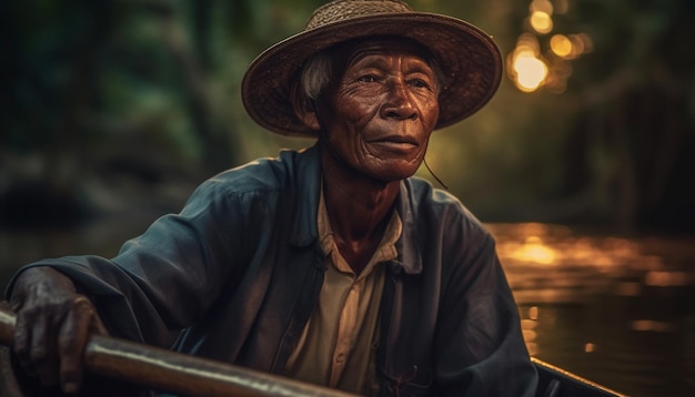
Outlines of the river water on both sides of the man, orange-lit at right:
{"label": "river water on both sides of the man, orange-lit at right", "polygon": [[[0,282],[42,257],[111,256],[151,221],[115,216],[70,233],[0,232]],[[533,356],[631,396],[695,395],[695,237],[487,226]]]}

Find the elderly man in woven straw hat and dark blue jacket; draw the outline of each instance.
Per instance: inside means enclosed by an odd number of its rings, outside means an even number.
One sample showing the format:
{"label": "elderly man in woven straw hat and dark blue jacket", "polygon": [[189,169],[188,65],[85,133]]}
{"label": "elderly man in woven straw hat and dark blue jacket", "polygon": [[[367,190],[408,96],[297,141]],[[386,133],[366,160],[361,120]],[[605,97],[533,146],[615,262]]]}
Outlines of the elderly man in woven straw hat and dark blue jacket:
{"label": "elderly man in woven straw hat and dark blue jacket", "polygon": [[88,333],[363,395],[532,396],[492,236],[412,177],[430,134],[501,79],[488,35],[400,1],[339,0],[244,77],[251,116],[316,136],[203,183],[112,259],[27,266],[8,288],[30,376],[73,393]]}

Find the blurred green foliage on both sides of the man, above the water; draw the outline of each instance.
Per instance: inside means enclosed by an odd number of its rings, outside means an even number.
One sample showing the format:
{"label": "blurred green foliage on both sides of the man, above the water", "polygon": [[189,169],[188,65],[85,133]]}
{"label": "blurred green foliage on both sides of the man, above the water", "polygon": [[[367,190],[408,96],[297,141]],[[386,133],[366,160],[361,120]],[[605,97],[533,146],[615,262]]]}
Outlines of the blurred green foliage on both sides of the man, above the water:
{"label": "blurred green foliage on both sides of the man, above the water", "polygon": [[[202,180],[281,146],[311,144],[255,125],[239,91],[249,62],[301,31],[321,3],[4,1],[0,152],[39,153],[48,163],[68,156],[89,170],[121,151],[144,151]],[[505,57],[528,31],[530,1],[410,3],[483,28]],[[553,17],[554,31],[537,34],[548,59],[555,32],[592,39],[593,51],[571,61],[566,91],[526,94],[505,79],[480,113],[433,135],[429,164],[484,220],[695,218],[687,208],[695,198],[687,187],[695,174],[687,154],[695,145],[694,7],[567,4]],[[46,167],[49,175],[57,169]]]}

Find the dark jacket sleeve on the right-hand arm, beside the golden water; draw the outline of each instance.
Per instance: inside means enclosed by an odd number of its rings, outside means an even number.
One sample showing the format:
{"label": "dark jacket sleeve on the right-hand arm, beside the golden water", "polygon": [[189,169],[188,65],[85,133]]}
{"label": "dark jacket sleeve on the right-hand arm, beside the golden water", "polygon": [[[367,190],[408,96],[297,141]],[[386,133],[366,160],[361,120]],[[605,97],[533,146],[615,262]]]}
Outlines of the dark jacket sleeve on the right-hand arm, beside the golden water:
{"label": "dark jacket sleeve on the right-hand arm, beside the golden water", "polygon": [[537,375],[494,240],[476,223],[456,228],[444,237],[453,266],[444,272],[435,337],[441,395],[534,396]]}

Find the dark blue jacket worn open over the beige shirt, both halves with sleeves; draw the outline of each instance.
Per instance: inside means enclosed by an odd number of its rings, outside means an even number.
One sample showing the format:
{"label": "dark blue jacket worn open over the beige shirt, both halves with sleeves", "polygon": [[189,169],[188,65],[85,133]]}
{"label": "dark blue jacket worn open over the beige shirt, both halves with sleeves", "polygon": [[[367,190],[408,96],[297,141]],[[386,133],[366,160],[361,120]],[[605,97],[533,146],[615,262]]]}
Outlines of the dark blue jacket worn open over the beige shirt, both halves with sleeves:
{"label": "dark blue jacket worn open over the beige shirt, both halves with sleeves", "polygon": [[[316,304],[319,149],[284,151],[204,182],[118,256],[50,265],[90,296],[112,335],[282,374]],[[494,240],[461,202],[401,183],[399,258],[385,263],[382,395],[533,396]]]}

